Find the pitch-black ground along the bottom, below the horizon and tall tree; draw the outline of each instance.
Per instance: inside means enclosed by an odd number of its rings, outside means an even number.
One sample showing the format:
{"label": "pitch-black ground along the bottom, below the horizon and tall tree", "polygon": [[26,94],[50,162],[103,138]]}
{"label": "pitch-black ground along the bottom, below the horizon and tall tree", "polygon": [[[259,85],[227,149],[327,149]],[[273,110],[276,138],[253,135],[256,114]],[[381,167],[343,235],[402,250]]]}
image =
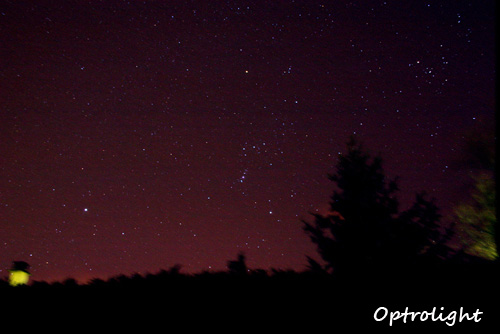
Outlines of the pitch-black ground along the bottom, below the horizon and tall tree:
{"label": "pitch-black ground along the bottom, below the horizon and tall tree", "polygon": [[[252,271],[184,275],[176,270],[151,275],[120,276],[77,285],[72,280],[0,289],[6,322],[23,327],[80,326],[146,328],[160,332],[192,329],[250,331],[306,330],[333,333],[338,328],[484,332],[498,326],[499,270],[493,263],[406,269],[390,274],[357,273],[334,278],[311,272]],[[444,307],[443,317],[463,307],[479,322],[374,321],[379,307],[390,312],[431,311]],[[458,319],[458,318],[457,318]],[[91,325],[93,324],[93,325]],[[97,327],[95,327],[97,326]],[[100,331],[101,331],[100,330]]]}

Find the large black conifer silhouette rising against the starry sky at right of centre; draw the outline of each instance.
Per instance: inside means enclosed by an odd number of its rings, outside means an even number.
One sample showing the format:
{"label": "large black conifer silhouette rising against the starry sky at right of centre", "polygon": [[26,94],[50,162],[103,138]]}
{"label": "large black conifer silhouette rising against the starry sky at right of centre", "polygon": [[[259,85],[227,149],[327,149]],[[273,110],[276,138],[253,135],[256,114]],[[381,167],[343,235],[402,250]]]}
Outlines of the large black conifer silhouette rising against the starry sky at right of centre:
{"label": "large black conifer silhouette rising against the starry sky at right of centre", "polygon": [[314,223],[303,221],[327,270],[355,275],[409,264],[442,242],[433,201],[417,194],[415,204],[398,214],[397,179],[388,180],[380,156],[370,157],[354,137],[329,179],[337,186],[330,212],[313,213]]}

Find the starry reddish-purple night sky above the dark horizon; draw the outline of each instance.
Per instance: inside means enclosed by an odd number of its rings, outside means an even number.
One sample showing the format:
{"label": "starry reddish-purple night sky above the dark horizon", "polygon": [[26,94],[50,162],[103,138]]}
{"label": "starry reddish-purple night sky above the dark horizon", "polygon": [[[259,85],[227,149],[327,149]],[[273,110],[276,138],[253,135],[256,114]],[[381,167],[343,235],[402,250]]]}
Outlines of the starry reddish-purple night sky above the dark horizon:
{"label": "starry reddish-purple night sky above the dark horizon", "polygon": [[446,214],[494,1],[0,1],[0,276],[303,270],[350,135]]}

